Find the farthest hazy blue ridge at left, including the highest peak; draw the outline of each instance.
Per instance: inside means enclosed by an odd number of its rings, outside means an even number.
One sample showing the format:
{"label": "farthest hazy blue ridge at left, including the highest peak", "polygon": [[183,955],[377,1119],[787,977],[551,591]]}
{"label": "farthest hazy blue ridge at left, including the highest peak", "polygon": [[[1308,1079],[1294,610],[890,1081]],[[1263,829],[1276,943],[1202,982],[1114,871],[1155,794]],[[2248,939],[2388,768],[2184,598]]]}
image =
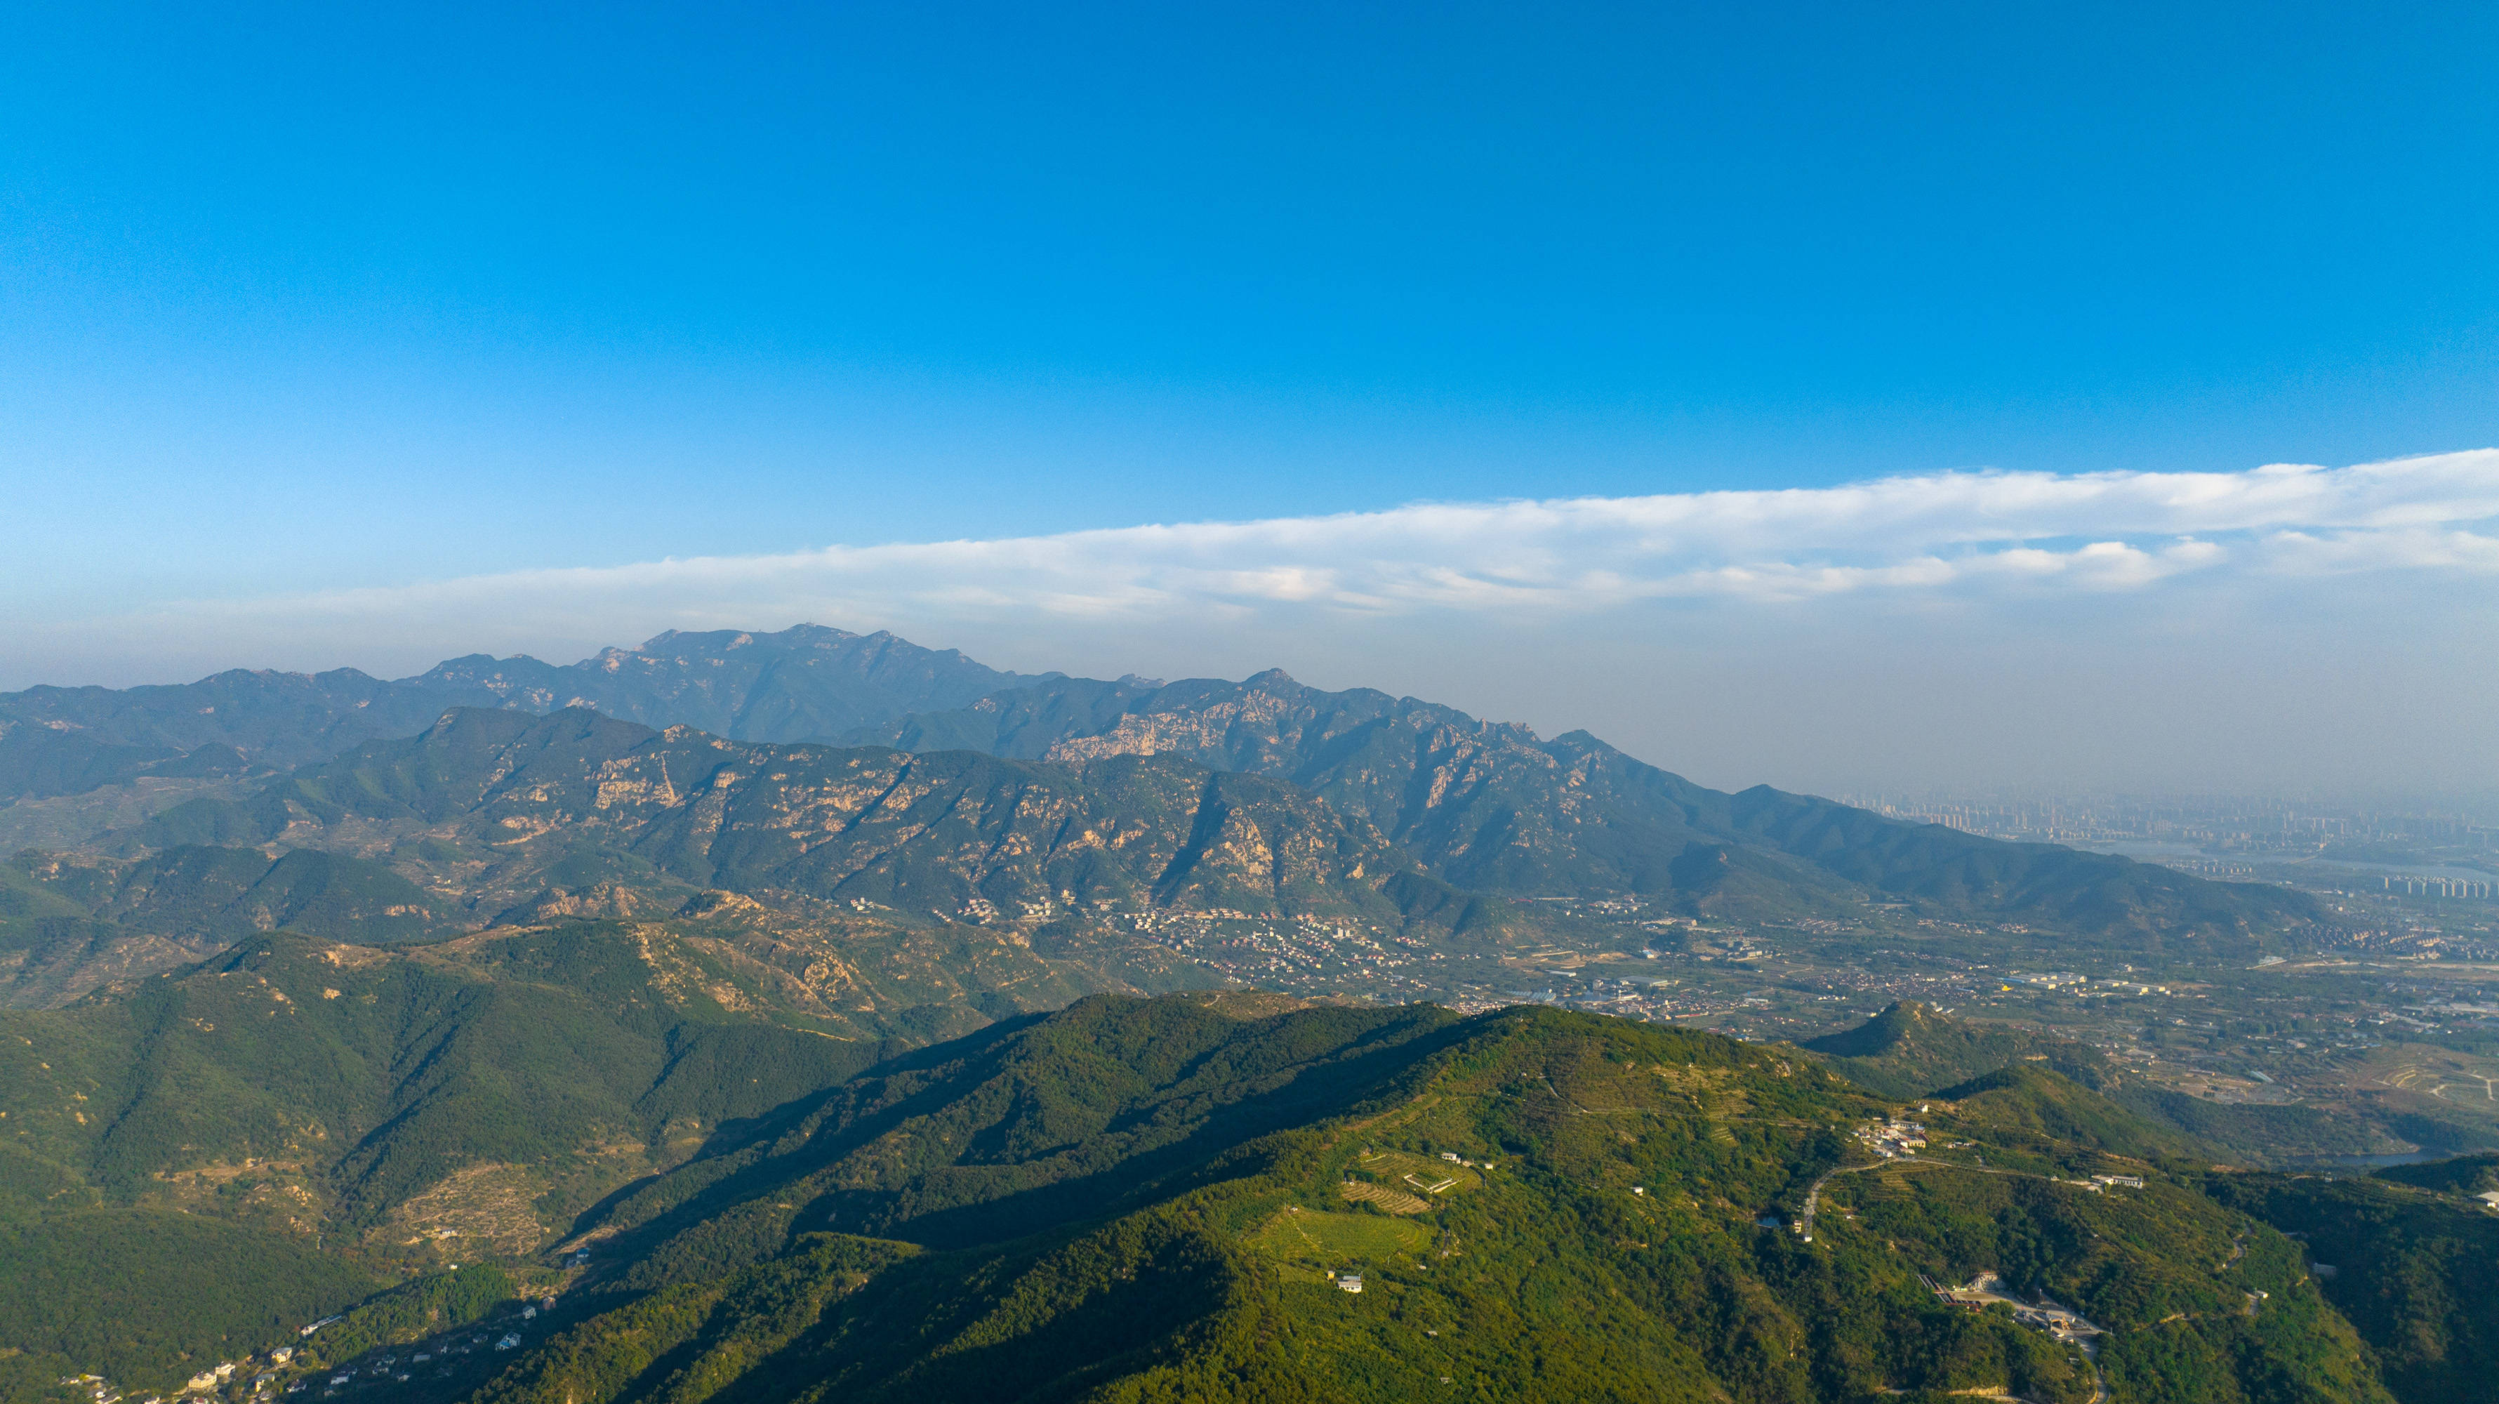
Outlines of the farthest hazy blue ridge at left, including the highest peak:
{"label": "farthest hazy blue ridge at left, including the highest peak", "polygon": [[917,709],[1032,682],[887,632],[820,625],[677,632],[575,665],[470,655],[385,682],[230,670],[160,687],[27,687],[0,695],[0,802],[85,794],[142,777],[285,769],[357,742],[412,737],[445,707],[595,707],[657,727],[757,742],[830,739]]}

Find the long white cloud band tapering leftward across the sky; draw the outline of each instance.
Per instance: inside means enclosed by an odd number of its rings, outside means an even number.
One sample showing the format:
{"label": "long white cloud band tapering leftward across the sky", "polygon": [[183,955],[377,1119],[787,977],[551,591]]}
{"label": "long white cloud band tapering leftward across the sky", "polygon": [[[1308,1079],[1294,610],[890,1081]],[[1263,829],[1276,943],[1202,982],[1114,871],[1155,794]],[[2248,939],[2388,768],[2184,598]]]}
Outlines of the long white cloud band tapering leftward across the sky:
{"label": "long white cloud band tapering leftward across the sky", "polygon": [[[515,570],[405,587],[180,600],[25,622],[82,652],[412,665],[435,650],[562,652],[660,627],[995,632],[1382,617],[1602,617],[1872,600],[2107,600],[2184,580],[2499,575],[2499,450],[2249,472],[1937,472],[1847,487],[1547,502],[900,542]],[[270,657],[275,652],[285,660]],[[40,650],[32,650],[40,652]],[[305,657],[320,655],[320,657]],[[212,662],[202,657],[202,662]],[[30,682],[30,680],[25,680]]]}

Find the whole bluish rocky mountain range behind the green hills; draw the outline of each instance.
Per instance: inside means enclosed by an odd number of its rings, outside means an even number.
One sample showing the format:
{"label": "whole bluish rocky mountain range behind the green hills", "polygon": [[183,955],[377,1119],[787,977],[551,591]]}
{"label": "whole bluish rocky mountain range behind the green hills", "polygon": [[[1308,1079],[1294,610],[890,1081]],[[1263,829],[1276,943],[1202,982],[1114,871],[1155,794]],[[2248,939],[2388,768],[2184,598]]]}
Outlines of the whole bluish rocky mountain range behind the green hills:
{"label": "whole bluish rocky mountain range behind the green hills", "polygon": [[1534,927],[1537,899],[1629,897],[1732,919],[1879,902],[2237,957],[2314,914],[2272,887],[1727,794],[1412,697],[1282,672],[1017,677],[820,627],[400,682],[30,690],[0,697],[0,829],[47,824],[0,879],[12,1002],[247,929],[412,939],[702,892],[1095,947],[1152,912],[1489,939]]}

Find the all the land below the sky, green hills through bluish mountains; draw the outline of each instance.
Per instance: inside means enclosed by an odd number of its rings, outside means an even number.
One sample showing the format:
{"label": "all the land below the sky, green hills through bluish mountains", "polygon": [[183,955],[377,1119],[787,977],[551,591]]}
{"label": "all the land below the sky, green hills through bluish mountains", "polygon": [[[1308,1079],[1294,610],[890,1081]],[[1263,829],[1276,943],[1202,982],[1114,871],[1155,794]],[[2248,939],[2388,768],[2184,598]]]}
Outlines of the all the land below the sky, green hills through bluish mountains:
{"label": "all the land below the sky, green hills through bluish mountains", "polygon": [[2484,1349],[2427,1287],[2484,1187],[2359,1174],[2499,1144],[2467,902],[1284,675],[592,662],[0,697],[0,1394],[2427,1404]]}

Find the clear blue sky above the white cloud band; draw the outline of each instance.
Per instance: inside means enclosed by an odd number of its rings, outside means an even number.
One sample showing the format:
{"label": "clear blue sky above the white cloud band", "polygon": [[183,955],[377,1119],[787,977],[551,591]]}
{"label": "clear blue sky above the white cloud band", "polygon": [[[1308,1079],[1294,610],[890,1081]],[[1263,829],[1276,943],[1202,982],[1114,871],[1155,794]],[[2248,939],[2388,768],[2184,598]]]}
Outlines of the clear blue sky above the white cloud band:
{"label": "clear blue sky above the white cloud band", "polygon": [[[0,592],[60,637],[2484,447],[2494,40],[2469,5],[20,10]],[[0,685],[192,657],[125,635]]]}

